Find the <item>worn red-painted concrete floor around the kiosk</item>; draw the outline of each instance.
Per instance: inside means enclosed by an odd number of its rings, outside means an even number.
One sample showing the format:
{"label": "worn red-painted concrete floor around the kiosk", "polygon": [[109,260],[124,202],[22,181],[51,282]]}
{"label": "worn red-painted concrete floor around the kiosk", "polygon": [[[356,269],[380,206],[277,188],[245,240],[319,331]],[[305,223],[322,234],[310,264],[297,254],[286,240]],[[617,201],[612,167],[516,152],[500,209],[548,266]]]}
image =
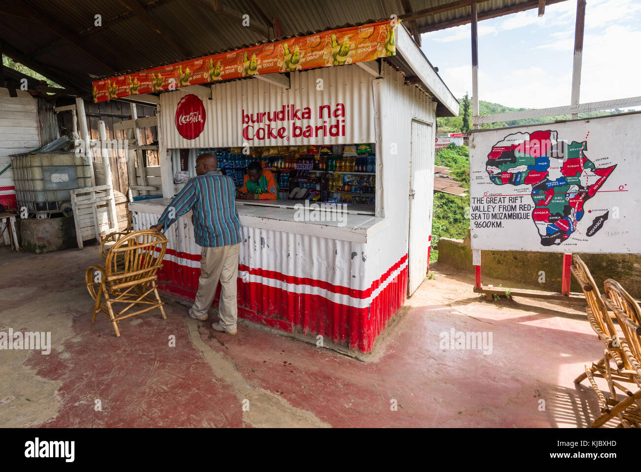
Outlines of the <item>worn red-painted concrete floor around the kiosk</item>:
{"label": "worn red-painted concrete floor around the kiosk", "polygon": [[[213,317],[189,319],[175,301],[167,320],[126,319],[116,338],[90,319],[84,273],[98,260],[97,246],[0,249],[0,331],[52,342],[49,355],[0,351],[0,426],[572,428],[598,412],[572,382],[603,355],[581,304],[488,302],[470,276],[437,268],[361,362],[245,321],[236,336],[213,332]],[[491,332],[492,353],[440,346],[451,328]]]}

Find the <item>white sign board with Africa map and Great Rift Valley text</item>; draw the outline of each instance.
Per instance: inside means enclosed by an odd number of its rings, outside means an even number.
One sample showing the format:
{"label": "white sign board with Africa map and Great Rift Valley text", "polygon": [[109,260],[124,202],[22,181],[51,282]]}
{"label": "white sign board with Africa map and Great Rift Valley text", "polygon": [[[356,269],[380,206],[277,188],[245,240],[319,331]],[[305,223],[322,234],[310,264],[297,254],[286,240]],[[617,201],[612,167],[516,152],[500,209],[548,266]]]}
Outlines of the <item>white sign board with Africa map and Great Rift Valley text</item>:
{"label": "white sign board with Africa map and Great Rift Valley text", "polygon": [[473,131],[472,249],[641,253],[641,114]]}

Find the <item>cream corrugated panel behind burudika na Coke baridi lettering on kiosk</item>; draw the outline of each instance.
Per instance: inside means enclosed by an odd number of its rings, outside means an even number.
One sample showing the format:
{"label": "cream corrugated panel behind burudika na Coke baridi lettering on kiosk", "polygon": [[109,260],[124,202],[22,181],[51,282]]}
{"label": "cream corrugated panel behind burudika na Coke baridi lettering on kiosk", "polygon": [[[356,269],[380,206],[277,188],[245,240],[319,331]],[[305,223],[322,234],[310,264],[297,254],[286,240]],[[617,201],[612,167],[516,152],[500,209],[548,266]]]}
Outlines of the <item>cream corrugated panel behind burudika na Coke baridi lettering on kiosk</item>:
{"label": "cream corrugated panel behind burudika na Coke baridi lettering on kiosk", "polygon": [[[322,80],[322,83],[319,82]],[[298,144],[351,144],[374,142],[374,108],[372,103],[372,76],[358,65],[324,67],[313,71],[292,72],[291,88],[276,87],[258,79],[237,80],[212,86],[212,100],[203,99],[206,120],[203,132],[193,140],[179,135],[174,124],[178,102],[184,92],[165,92],[160,96],[163,135],[167,148],[224,148],[242,146],[294,146]],[[322,90],[317,87],[322,85]],[[322,125],[318,119],[319,106],[329,105],[334,110],[337,103],[345,105],[345,136],[319,138],[293,138],[245,140],[243,117],[245,113],[274,112],[283,105],[294,104],[296,108],[308,106],[312,119],[303,121],[276,122],[285,126],[290,135],[292,122],[297,125]],[[325,115],[326,116],[326,115]],[[342,119],[342,118],[341,118]],[[328,120],[328,126],[337,119]],[[269,124],[269,123],[268,123]],[[256,129],[254,124],[254,131]],[[259,125],[260,126],[260,125]]]}

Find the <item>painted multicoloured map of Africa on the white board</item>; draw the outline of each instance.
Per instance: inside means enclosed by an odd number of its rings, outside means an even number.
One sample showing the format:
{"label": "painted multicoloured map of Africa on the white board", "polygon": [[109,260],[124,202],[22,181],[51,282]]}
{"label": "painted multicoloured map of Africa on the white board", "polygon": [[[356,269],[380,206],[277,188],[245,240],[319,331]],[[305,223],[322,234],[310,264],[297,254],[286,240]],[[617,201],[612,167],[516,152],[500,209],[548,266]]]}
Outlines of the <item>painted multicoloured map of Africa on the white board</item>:
{"label": "painted multicoloured map of Africa on the white board", "polygon": [[[586,151],[587,137],[569,142],[545,130],[507,135],[487,155],[485,170],[494,185],[531,186],[531,219],[542,246],[558,246],[577,231],[585,203],[617,167],[597,167]],[[594,235],[607,218],[608,212],[596,217],[585,235]]]}

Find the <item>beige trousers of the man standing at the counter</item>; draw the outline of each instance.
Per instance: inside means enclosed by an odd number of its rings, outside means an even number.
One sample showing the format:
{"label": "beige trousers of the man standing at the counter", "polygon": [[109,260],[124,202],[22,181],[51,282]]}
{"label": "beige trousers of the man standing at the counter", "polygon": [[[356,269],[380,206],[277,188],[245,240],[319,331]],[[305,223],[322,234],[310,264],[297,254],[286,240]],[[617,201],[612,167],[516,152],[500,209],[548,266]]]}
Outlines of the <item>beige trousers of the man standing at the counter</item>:
{"label": "beige trousers of the man standing at the counter", "polygon": [[203,248],[201,251],[201,276],[198,281],[196,301],[191,312],[203,317],[212,307],[218,281],[221,281],[221,302],[218,317],[226,331],[236,331],[238,302],[236,298],[236,279],[238,277],[238,251],[240,243],[219,248]]}

